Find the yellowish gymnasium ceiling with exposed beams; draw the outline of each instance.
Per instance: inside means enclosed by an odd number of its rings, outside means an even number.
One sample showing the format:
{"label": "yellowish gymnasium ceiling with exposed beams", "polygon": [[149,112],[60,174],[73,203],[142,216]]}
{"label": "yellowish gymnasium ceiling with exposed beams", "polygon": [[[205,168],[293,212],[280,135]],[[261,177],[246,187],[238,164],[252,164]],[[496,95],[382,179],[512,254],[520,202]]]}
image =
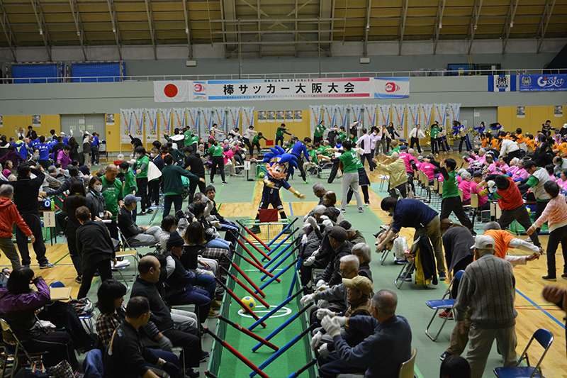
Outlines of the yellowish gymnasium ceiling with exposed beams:
{"label": "yellowish gymnasium ceiling with exposed beams", "polygon": [[[222,43],[226,57],[331,43],[567,37],[567,0],[0,0],[0,47]],[[505,48],[505,47],[504,47]],[[469,48],[470,51],[470,48]],[[539,47],[538,47],[539,51]],[[13,57],[15,58],[15,54]]]}

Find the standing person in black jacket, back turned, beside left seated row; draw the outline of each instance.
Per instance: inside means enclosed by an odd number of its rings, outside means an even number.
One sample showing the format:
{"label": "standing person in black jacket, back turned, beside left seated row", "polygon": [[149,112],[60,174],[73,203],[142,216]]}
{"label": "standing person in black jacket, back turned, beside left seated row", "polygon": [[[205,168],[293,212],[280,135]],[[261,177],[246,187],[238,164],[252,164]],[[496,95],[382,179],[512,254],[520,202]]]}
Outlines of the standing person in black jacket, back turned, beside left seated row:
{"label": "standing person in black jacket, back turned, beside left seated row", "polygon": [[81,226],[77,228],[77,252],[82,258],[83,277],[77,299],[82,299],[89,293],[94,272],[99,270],[103,281],[112,279],[111,260],[116,262],[114,245],[111,235],[104,223],[91,221],[91,213],[86,206],[75,211]]}

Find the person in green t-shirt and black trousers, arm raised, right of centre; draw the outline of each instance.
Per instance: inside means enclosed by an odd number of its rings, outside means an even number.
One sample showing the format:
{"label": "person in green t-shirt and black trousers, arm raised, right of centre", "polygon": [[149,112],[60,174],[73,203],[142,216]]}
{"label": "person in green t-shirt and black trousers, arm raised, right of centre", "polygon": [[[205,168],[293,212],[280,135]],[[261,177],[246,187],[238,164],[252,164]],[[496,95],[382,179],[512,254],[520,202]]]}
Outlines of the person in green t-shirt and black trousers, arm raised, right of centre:
{"label": "person in green t-shirt and black trousers, arm raised, right of centre", "polygon": [[[463,202],[461,201],[461,196],[459,195],[459,184],[456,181],[456,161],[449,157],[449,159],[444,159],[440,163],[434,160],[431,161],[432,165],[439,167],[439,171],[443,175],[443,199],[441,201],[441,215],[440,220],[444,218],[449,218],[451,213],[455,213],[455,216],[459,219],[459,222],[471,233],[476,235],[473,229],[473,223],[466,216],[463,209]],[[439,269],[440,270],[440,269]]]}

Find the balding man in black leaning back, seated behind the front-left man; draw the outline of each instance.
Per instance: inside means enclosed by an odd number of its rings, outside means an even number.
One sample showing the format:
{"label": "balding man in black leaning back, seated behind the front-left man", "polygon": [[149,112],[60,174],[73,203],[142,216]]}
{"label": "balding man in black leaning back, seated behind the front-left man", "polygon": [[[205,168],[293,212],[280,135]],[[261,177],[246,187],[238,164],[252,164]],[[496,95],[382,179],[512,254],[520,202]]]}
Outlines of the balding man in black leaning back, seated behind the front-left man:
{"label": "balding man in black leaning back, seated behind the front-left man", "polygon": [[[161,266],[154,256],[144,256],[137,265],[140,274],[136,278],[132,287],[132,296],[144,296],[150,301],[150,320],[155,323],[157,328],[164,336],[172,340],[174,346],[183,347],[183,355],[186,365],[198,367],[199,362],[204,360],[206,352],[201,350],[201,333],[191,326],[175,326],[172,314],[165,304],[155,283],[159,281]],[[191,378],[198,377],[198,372],[189,369],[185,374]]]}

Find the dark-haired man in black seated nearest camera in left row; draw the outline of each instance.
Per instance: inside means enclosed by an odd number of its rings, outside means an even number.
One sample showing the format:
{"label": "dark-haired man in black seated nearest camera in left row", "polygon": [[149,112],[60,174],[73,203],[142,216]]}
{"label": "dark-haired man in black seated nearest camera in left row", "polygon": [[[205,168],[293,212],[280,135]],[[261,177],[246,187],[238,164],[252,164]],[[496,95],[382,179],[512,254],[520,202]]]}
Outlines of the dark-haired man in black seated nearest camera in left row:
{"label": "dark-haired man in black seated nearest camera in left row", "polygon": [[157,378],[147,363],[167,372],[172,378],[181,378],[181,370],[172,362],[157,357],[143,343],[138,330],[150,320],[150,303],[143,296],[130,298],[125,320],[114,330],[111,343],[103,355],[105,378]]}

